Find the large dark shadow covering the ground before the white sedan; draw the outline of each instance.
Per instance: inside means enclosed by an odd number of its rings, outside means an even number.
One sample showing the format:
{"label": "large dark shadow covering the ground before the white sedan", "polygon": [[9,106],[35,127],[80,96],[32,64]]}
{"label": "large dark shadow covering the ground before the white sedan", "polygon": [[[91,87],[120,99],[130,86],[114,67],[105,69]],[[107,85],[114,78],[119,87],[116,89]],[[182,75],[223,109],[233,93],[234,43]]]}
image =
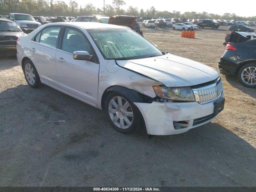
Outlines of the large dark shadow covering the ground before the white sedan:
{"label": "large dark shadow covering the ground before the white sedan", "polygon": [[48,86],[19,85],[0,100],[0,186],[256,185],[256,149],[239,127],[149,139],[117,132],[103,111]]}

